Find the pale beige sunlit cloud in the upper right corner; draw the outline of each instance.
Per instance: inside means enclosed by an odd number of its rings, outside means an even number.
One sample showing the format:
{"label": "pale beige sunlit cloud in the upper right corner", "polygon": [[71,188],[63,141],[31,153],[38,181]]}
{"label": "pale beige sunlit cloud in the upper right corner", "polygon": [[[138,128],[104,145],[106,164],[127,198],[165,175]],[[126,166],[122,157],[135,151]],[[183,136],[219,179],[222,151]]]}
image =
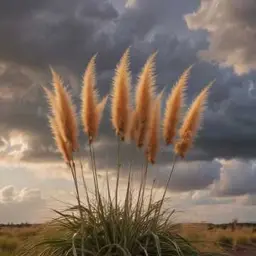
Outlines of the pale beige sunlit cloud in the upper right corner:
{"label": "pale beige sunlit cloud in the upper right corner", "polygon": [[189,29],[208,32],[209,47],[200,56],[240,75],[255,70],[255,11],[254,0],[201,0],[198,10],[185,16]]}

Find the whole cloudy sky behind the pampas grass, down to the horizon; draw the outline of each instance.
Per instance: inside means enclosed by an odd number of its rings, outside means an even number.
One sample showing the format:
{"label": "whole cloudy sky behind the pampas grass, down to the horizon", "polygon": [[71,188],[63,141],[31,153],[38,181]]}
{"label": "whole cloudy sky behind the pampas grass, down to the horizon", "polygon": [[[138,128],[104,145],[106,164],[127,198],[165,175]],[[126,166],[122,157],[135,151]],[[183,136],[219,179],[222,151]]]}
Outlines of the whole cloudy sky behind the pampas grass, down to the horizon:
{"label": "whole cloudy sky behind the pampas grass, down to the horizon", "polygon": [[[157,91],[168,92],[196,63],[187,103],[209,81],[203,129],[180,161],[169,187],[169,207],[181,221],[256,221],[256,2],[254,0],[9,0],[0,3],[0,222],[45,221],[51,208],[73,202],[71,177],[55,152],[41,85],[49,65],[79,106],[81,76],[98,52],[98,89],[111,88],[116,63],[131,46],[136,79],[158,50]],[[85,145],[85,140],[82,138]],[[109,103],[96,144],[101,185],[114,182],[115,140]],[[128,163],[139,170],[142,153],[122,148],[121,187]],[[172,153],[162,148],[150,167],[160,195]],[[91,174],[84,154],[86,179]],[[136,186],[136,179],[134,181]],[[64,203],[62,203],[64,202]]]}

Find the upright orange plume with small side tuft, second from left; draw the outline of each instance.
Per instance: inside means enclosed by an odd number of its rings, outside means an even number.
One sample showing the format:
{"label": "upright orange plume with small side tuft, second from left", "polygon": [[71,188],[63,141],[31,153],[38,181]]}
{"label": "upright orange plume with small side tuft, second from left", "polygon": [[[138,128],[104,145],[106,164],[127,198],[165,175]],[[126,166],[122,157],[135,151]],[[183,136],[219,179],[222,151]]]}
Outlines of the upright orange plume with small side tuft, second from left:
{"label": "upright orange plume with small side tuft, second from left", "polygon": [[85,133],[91,144],[97,137],[102,112],[105,108],[107,97],[98,103],[98,92],[96,90],[96,71],[94,55],[89,61],[83,77],[83,88],[81,93],[81,119]]}

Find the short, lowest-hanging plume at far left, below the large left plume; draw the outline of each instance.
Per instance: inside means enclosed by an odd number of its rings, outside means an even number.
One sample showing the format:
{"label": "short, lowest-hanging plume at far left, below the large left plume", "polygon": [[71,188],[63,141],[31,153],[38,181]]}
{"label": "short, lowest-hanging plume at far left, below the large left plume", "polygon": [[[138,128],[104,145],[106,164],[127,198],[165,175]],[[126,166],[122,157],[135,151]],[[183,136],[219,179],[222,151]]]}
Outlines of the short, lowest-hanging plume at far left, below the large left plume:
{"label": "short, lowest-hanging plume at far left, below the large left plume", "polygon": [[64,161],[66,163],[69,163],[72,160],[71,146],[69,143],[66,143],[63,137],[61,136],[60,129],[57,125],[56,120],[51,116],[49,116],[48,118],[56,146],[59,149]]}

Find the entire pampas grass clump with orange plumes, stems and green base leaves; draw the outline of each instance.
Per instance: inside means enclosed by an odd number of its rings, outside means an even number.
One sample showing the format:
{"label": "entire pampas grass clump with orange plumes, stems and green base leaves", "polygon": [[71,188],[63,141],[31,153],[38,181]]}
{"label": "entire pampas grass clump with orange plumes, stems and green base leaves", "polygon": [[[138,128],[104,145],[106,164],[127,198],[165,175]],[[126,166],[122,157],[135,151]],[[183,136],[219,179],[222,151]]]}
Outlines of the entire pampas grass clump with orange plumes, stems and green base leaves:
{"label": "entire pampas grass clump with orange plumes, stems and green base leaves", "polygon": [[[138,78],[135,94],[136,106],[132,111],[130,99],[131,74],[129,71],[129,49],[126,50],[116,68],[113,79],[111,120],[117,136],[117,178],[115,197],[111,197],[107,175],[108,196],[100,193],[97,179],[97,161],[93,144],[97,137],[100,119],[107,97],[98,103],[96,91],[96,72],[94,56],[85,71],[81,94],[81,118],[84,132],[88,136],[91,169],[94,178],[95,197],[88,194],[88,181],[83,178],[83,189],[86,200],[81,199],[81,187],[77,175],[77,159],[74,152],[79,149],[76,113],[71,95],[64,88],[60,77],[52,70],[54,92],[45,89],[52,116],[50,125],[56,145],[61,152],[74,181],[77,205],[58,212],[58,218],[51,223],[55,232],[53,235],[42,234],[37,243],[31,244],[21,255],[40,256],[87,256],[87,255],[124,255],[124,256],[194,256],[199,252],[184,238],[178,235],[172,222],[173,210],[163,210],[170,179],[178,158],[184,157],[192,145],[199,128],[203,106],[206,101],[209,86],[195,99],[183,125],[180,129],[180,139],[174,143],[174,136],[181,119],[184,88],[190,69],[181,76],[172,90],[167,102],[163,123],[166,144],[173,143],[173,167],[160,201],[153,200],[156,192],[154,184],[150,199],[145,196],[147,172],[149,163],[155,163],[159,149],[159,128],[161,126],[160,107],[161,96],[155,95],[155,57],[152,54],[146,61]],[[134,192],[132,170],[130,168],[127,187],[123,202],[118,199],[119,176],[121,167],[120,143],[131,137],[135,146],[144,151],[145,164],[141,171],[141,181],[138,194]],[[186,145],[186,146],[184,146]],[[78,159],[79,160],[79,159]],[[83,164],[80,159],[82,174]],[[137,198],[136,198],[137,197]],[[134,200],[135,199],[135,200]],[[115,204],[113,204],[115,200]]]}

